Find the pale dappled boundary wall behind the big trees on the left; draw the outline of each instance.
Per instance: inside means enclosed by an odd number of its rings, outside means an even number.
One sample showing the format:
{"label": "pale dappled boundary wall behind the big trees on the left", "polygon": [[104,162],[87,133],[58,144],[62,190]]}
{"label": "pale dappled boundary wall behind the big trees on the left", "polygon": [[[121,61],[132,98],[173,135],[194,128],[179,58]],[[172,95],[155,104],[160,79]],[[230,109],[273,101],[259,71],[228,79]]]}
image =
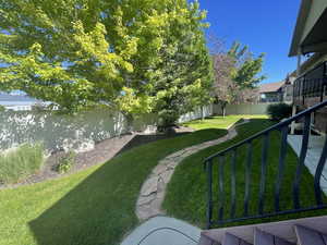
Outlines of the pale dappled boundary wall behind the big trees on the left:
{"label": "pale dappled boundary wall behind the big trees on the left", "polygon": [[[205,109],[206,117],[213,113]],[[180,122],[201,118],[201,110],[182,115]],[[0,150],[23,143],[43,142],[49,151],[59,149],[89,150],[97,142],[128,133],[124,117],[107,109],[75,115],[35,111],[0,112]],[[156,117],[144,115],[133,123],[133,131],[153,132]]]}

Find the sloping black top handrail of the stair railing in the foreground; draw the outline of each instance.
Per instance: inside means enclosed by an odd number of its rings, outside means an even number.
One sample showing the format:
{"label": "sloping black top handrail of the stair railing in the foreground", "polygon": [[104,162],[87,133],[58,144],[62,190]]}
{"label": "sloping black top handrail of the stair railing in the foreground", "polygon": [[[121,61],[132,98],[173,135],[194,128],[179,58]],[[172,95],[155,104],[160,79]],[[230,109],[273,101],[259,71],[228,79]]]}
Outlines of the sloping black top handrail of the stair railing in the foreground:
{"label": "sloping black top handrail of the stair railing in the foreground", "polygon": [[274,130],[279,130],[279,128],[281,128],[283,126],[288,126],[289,124],[291,124],[292,122],[296,121],[298,119],[303,118],[304,115],[310,114],[310,113],[312,113],[312,112],[314,112],[316,110],[319,110],[319,109],[322,109],[322,108],[324,108],[326,106],[327,106],[327,100],[325,100],[324,102],[318,103],[316,106],[313,106],[313,107],[311,107],[311,108],[308,108],[308,109],[306,109],[306,110],[298,113],[296,115],[294,115],[292,118],[289,118],[289,119],[287,119],[287,120],[284,120],[282,122],[279,122],[279,123],[277,123],[277,124],[275,124],[275,125],[272,125],[272,126],[270,126],[270,127],[268,127],[268,128],[266,128],[266,130],[264,130],[264,131],[262,131],[259,133],[256,133],[253,136],[244,139],[244,140],[242,140],[242,142],[240,142],[240,143],[238,143],[238,144],[235,144],[235,145],[233,145],[233,146],[231,146],[231,147],[229,147],[229,148],[227,148],[225,150],[221,150],[221,151],[219,151],[217,154],[211,155],[210,157],[208,157],[208,158],[205,159],[205,163],[208,162],[208,161],[210,161],[213,158],[216,158],[218,156],[222,156],[226,152],[228,152],[228,151],[230,151],[230,150],[232,150],[234,148],[238,148],[241,145],[247,144],[249,142],[252,142],[253,139],[258,138],[258,137],[261,137],[261,136],[263,136],[263,135],[265,135],[265,134],[267,134],[267,133],[269,133],[269,132],[271,132]]}

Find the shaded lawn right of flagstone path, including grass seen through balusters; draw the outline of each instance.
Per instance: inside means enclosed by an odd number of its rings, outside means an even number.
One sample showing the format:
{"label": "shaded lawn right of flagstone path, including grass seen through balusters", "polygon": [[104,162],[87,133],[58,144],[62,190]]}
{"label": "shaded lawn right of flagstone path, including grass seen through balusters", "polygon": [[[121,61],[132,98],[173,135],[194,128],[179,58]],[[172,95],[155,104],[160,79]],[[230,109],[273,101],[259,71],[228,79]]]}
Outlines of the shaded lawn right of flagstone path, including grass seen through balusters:
{"label": "shaded lawn right of flagstone path, including grass seen through balusters", "polygon": [[[269,120],[265,119],[254,119],[249,124],[243,124],[239,126],[239,135],[221,145],[214,146],[204,149],[191,157],[184,159],[183,162],[177,168],[171,182],[168,185],[168,193],[164,203],[164,208],[167,210],[169,216],[189,221],[202,228],[205,226],[206,222],[206,192],[207,182],[206,173],[203,168],[203,161],[206,157],[226,149],[227,147],[247,138],[256,132],[259,132],[271,125]],[[252,184],[251,184],[251,203],[250,203],[250,213],[256,215],[258,209],[258,193],[259,193],[259,180],[261,180],[261,152],[262,152],[262,140],[255,140],[253,147],[253,166],[252,166]],[[274,191],[275,191],[275,180],[278,169],[278,156],[279,156],[279,145],[280,145],[280,134],[278,132],[270,136],[269,140],[269,152],[268,152],[268,169],[267,169],[267,188],[266,188],[266,201],[265,211],[274,210]],[[244,186],[245,186],[245,159],[246,159],[246,148],[242,147],[238,150],[238,162],[237,162],[237,217],[242,217],[243,215],[243,204],[244,204]],[[225,164],[225,191],[226,191],[226,203],[225,203],[225,217],[230,217],[230,193],[231,193],[231,168],[230,168],[230,157],[227,158]],[[281,189],[281,209],[292,208],[292,196],[291,187],[294,177],[295,167],[298,164],[298,157],[293,150],[289,147],[286,160],[284,179],[282,182]],[[217,198],[217,187],[218,187],[218,166],[214,167],[214,219],[217,220],[218,217],[218,198]],[[186,191],[187,189],[187,191]],[[301,184],[301,205],[304,207],[307,205],[313,205],[314,189],[313,189],[313,176],[305,169],[302,175]],[[276,217],[264,220],[252,220],[247,222],[230,223],[229,225],[240,225],[253,222],[267,222],[274,220],[299,218],[314,215],[326,215],[327,211],[313,211],[301,215],[290,215],[283,217]]]}

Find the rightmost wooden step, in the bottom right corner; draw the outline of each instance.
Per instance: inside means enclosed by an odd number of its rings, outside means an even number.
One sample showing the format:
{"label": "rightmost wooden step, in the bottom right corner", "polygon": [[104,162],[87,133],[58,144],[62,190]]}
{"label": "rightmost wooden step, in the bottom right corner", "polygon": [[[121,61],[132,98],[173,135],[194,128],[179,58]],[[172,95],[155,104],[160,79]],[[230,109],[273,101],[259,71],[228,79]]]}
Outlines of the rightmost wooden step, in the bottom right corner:
{"label": "rightmost wooden step, in the bottom right corner", "polygon": [[327,235],[315,230],[295,225],[295,234],[299,245],[327,245]]}

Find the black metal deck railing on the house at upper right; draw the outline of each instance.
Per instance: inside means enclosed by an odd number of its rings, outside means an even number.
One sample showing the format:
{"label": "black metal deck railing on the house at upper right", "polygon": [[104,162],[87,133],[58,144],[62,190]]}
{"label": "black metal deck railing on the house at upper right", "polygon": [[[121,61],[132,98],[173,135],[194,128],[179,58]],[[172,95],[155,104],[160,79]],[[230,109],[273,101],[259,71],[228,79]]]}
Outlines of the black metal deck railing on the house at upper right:
{"label": "black metal deck railing on the house at upper right", "polygon": [[319,97],[323,101],[327,87],[327,62],[323,62],[294,81],[293,97],[296,105],[306,98]]}

